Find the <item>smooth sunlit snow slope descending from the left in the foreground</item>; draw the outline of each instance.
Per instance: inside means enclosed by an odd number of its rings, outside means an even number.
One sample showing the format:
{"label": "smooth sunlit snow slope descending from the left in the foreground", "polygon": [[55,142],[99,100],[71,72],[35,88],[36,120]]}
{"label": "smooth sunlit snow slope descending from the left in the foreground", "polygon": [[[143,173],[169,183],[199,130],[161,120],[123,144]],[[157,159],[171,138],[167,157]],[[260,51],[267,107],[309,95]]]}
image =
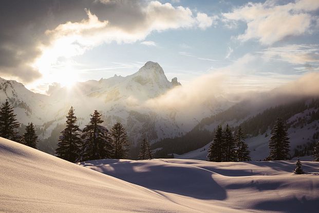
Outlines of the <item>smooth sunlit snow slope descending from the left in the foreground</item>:
{"label": "smooth sunlit snow slope descending from the left in the foreground", "polygon": [[0,162],[0,212],[198,212],[3,138]]}

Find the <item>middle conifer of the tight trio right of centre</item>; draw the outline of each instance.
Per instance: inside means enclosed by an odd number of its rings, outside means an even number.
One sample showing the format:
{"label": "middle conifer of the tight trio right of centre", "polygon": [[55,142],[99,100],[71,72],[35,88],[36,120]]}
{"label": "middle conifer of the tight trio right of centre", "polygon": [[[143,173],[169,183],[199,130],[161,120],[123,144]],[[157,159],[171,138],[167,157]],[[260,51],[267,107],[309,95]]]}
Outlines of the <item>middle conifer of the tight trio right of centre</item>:
{"label": "middle conifer of the tight trio right of centre", "polygon": [[223,159],[222,161],[235,161],[236,160],[236,152],[235,152],[235,141],[233,138],[232,130],[230,129],[229,125],[227,124],[224,131],[223,131]]}

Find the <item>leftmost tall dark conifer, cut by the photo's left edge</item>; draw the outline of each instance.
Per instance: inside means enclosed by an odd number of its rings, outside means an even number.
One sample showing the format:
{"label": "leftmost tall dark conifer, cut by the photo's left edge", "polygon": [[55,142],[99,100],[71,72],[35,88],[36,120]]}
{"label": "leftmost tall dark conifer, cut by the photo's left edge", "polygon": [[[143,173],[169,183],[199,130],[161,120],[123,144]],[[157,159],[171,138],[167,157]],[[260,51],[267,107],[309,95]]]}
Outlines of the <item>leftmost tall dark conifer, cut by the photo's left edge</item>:
{"label": "leftmost tall dark conifer, cut by the photo's left edge", "polygon": [[15,116],[13,107],[6,100],[0,108],[0,137],[19,142],[20,137],[16,128],[20,123],[16,121]]}

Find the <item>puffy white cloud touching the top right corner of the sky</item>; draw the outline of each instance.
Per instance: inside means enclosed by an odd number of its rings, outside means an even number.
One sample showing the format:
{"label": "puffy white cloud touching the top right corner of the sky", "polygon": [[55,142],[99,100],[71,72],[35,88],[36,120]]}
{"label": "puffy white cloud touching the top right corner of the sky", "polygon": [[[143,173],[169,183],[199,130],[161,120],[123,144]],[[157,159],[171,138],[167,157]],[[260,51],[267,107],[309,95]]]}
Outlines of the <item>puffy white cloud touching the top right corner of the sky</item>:
{"label": "puffy white cloud touching the top right corner of the sky", "polygon": [[268,0],[265,3],[248,3],[222,15],[232,23],[247,23],[245,33],[238,35],[241,41],[257,39],[263,45],[271,45],[287,36],[311,33],[317,18],[312,15],[319,9],[317,0],[300,0],[288,4],[278,4]]}

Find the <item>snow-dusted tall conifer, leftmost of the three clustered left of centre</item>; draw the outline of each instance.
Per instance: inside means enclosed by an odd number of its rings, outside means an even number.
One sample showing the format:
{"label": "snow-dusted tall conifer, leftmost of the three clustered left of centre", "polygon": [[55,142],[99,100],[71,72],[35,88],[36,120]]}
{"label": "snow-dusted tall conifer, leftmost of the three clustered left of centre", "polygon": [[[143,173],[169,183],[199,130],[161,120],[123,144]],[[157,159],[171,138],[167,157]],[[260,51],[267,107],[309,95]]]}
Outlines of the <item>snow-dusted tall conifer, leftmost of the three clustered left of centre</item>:
{"label": "snow-dusted tall conifer, leftmost of the three clustered left of centre", "polygon": [[77,117],[74,115],[73,107],[70,108],[66,119],[66,128],[61,132],[55,153],[59,158],[75,163],[80,157],[81,138],[79,131],[81,129],[76,125]]}

